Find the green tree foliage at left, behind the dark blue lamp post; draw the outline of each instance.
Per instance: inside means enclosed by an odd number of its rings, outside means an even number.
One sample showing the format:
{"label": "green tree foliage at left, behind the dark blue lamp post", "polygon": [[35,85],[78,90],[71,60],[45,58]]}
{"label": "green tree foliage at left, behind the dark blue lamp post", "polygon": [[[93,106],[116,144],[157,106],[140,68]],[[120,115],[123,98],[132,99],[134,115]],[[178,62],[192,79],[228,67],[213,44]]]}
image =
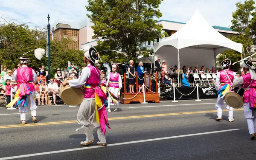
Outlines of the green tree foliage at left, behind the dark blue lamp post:
{"label": "green tree foliage at left, behind the dark blue lamp post", "polygon": [[[7,22],[7,21],[6,21]],[[44,28],[29,28],[27,24],[16,24],[15,22],[3,23],[0,25],[0,64],[11,69],[16,67],[23,53],[36,48],[47,46],[47,31]],[[79,67],[84,66],[83,52],[69,49],[67,46],[71,39],[51,41],[51,76],[53,77],[56,68],[63,68],[68,61]],[[29,67],[38,69],[41,65],[48,66],[48,57],[43,56],[41,60],[35,58],[34,53],[27,53]]]}

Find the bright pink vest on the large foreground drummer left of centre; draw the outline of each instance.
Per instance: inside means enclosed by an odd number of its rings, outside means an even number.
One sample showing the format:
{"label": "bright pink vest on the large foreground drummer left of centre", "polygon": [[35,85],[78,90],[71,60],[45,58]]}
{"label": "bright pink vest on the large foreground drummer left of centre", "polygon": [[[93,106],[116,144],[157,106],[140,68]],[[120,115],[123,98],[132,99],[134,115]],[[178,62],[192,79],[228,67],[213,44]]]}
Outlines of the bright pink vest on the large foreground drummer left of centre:
{"label": "bright pink vest on the large foreground drummer left of centre", "polygon": [[[99,86],[99,76],[100,70],[92,65],[88,66],[90,68],[90,78],[87,79],[85,83],[84,98],[95,98],[95,87]],[[97,70],[97,71],[96,71]]]}

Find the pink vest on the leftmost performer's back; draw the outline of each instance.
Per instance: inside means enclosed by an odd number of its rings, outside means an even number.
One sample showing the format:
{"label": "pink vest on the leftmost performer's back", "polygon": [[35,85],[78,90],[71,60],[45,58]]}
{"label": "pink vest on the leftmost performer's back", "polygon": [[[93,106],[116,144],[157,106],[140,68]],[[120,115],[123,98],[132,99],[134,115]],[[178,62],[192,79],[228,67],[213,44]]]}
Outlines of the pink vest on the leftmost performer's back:
{"label": "pink vest on the leftmost performer's back", "polygon": [[22,83],[26,83],[26,87],[29,87],[29,90],[33,92],[33,69],[29,67],[20,67],[17,69],[17,81],[19,85]]}

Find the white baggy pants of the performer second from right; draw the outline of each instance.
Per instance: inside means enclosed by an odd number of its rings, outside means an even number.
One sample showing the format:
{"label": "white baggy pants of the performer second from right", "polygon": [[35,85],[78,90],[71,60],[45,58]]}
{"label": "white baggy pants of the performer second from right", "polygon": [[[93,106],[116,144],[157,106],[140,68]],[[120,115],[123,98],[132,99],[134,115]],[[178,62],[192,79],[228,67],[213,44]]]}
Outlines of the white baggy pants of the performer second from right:
{"label": "white baggy pants of the performer second from right", "polygon": [[226,107],[228,109],[228,120],[231,121],[233,119],[234,108],[228,106],[227,104],[224,104],[224,99],[221,98],[221,94],[219,94],[217,103],[215,104],[215,108],[217,109],[218,118],[221,118],[221,116],[222,116],[222,108],[223,107]]}

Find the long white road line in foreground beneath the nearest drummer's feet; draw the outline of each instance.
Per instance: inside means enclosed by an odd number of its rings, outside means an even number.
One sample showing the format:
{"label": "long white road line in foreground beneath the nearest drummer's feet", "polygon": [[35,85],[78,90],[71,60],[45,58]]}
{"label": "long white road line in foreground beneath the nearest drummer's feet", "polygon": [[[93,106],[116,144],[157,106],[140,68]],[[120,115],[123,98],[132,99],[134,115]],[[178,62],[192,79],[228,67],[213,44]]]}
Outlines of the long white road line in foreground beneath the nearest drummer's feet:
{"label": "long white road line in foreground beneath the nearest drummer's feet", "polygon": [[[173,139],[173,138],[190,137],[190,136],[195,136],[195,135],[207,135],[207,134],[213,134],[213,133],[230,132],[230,131],[236,131],[236,130],[239,130],[239,129],[227,129],[227,130],[221,130],[221,131],[195,133],[195,134],[190,134],[190,135],[177,135],[177,136],[172,136],[172,137],[154,138],[154,139],[148,139],[148,140],[136,140],[136,141],[130,141],[130,142],[108,144],[108,146],[106,146],[106,147],[119,146],[119,145],[124,145],[124,144],[150,142],[150,141],[155,141],[155,140],[166,140],[166,139]],[[83,148],[76,148],[76,149],[64,149],[64,150],[52,151],[52,152],[24,154],[24,155],[13,156],[13,157],[2,157],[2,158],[0,158],[0,160],[12,160],[15,158],[32,157],[32,156],[40,156],[40,155],[63,153],[63,152],[73,152],[73,151],[80,151],[80,150],[86,150],[86,149],[95,149],[95,148],[100,148],[100,147],[104,147],[104,146],[91,146],[91,147],[83,147]]]}

